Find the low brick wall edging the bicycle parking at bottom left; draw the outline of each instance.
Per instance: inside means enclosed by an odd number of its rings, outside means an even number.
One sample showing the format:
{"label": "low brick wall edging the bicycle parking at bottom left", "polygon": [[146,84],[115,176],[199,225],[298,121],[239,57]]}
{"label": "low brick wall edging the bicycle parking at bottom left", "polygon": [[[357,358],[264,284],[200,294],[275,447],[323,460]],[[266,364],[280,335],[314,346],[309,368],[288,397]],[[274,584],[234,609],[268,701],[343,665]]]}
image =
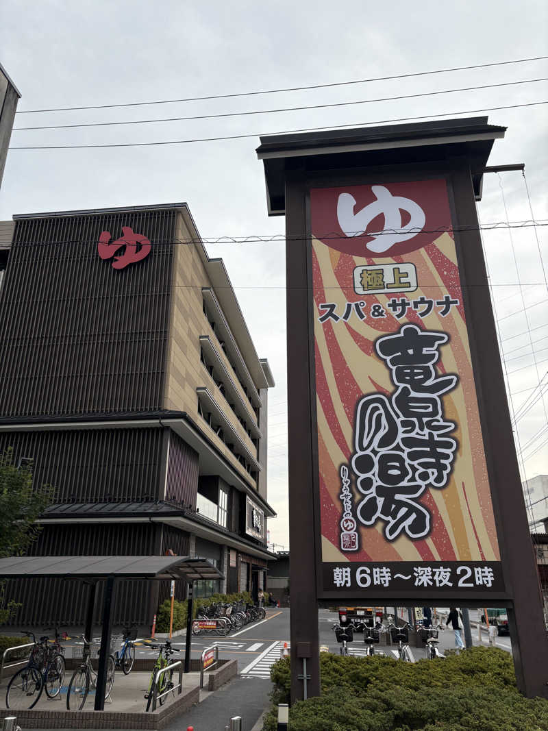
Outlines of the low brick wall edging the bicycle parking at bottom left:
{"label": "low brick wall edging the bicycle parking at bottom left", "polygon": [[[112,713],[110,711],[15,711],[24,729],[163,729],[175,716],[199,702],[199,688],[184,690],[173,702],[153,713]],[[9,713],[9,711],[3,711]]]}

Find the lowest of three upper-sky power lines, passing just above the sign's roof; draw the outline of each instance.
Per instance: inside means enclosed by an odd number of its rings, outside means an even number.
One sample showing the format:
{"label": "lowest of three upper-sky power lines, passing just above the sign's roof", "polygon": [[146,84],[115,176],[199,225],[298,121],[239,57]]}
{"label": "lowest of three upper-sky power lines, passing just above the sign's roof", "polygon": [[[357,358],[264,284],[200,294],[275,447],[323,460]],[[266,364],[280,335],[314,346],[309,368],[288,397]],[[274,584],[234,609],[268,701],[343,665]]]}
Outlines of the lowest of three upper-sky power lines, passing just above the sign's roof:
{"label": "lowest of three upper-sky power lines, passing just above the sign's roof", "polygon": [[222,142],[226,140],[244,140],[250,137],[267,137],[272,135],[292,135],[297,132],[318,132],[325,129],[347,129],[349,127],[366,127],[376,124],[389,124],[391,122],[408,122],[416,119],[426,119],[432,117],[454,117],[460,114],[476,114],[479,112],[496,112],[503,109],[518,109],[522,107],[538,107],[539,105],[548,104],[548,100],[543,102],[528,102],[526,104],[509,104],[503,107],[484,107],[484,109],[468,109],[460,112],[447,112],[444,114],[423,114],[416,117],[397,117],[393,119],[379,119],[375,122],[362,122],[358,124],[336,124],[330,125],[328,128],[320,127],[303,127],[302,129],[286,129],[283,132],[256,132],[252,135],[224,135],[223,137],[196,137],[191,140],[164,140],[163,142],[134,142],[134,143],[111,143],[102,145],[30,145],[27,147],[9,147],[9,150],[83,150],[88,148],[114,148],[114,147],[153,147],[159,145],[187,145],[199,142]]}

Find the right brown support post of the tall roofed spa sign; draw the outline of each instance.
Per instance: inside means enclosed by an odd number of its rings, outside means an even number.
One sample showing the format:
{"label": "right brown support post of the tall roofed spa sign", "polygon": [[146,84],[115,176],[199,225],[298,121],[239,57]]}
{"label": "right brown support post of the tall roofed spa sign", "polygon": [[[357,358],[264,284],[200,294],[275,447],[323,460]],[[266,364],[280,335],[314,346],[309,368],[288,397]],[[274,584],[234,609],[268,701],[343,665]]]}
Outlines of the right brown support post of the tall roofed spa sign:
{"label": "right brown support post of the tall roofed spa sign", "polygon": [[527,697],[548,697],[548,638],[542,611],[536,559],[528,527],[516,448],[511,430],[495,319],[478,230],[476,204],[468,160],[455,160],[452,175],[456,221],[461,230],[457,256],[463,271],[463,295],[476,376],[482,436],[493,508],[498,518],[499,548],[504,581],[511,596],[508,621],[516,681]]}

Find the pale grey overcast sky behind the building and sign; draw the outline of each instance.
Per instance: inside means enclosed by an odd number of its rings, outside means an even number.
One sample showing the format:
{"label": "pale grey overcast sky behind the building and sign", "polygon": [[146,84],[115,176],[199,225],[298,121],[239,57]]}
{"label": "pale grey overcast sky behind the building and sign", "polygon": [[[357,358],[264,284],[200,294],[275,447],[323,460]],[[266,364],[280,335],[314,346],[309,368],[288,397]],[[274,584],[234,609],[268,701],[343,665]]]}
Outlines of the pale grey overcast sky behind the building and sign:
{"label": "pale grey overcast sky behind the building and sign", "polygon": [[[492,61],[548,55],[545,0],[483,0],[444,7],[438,0],[286,0],[274,4],[156,0],[2,0],[0,62],[18,86],[19,110],[112,105],[338,83]],[[269,110],[365,101],[548,77],[548,61],[283,94],[199,102],[18,114],[15,126],[85,124]],[[13,213],[186,201],[204,238],[283,233],[267,217],[258,135],[415,115],[479,110],[548,99],[540,81],[478,91],[352,106],[130,126],[19,131],[12,146],[141,143],[256,135],[243,140],[149,147],[12,150],[0,193],[0,219]],[[489,112],[508,126],[490,164],[525,162],[535,218],[548,219],[548,105]],[[501,185],[503,188],[501,189]],[[544,191],[543,191],[544,189]],[[530,219],[521,173],[486,175],[483,223]],[[544,193],[544,194],[543,194]],[[548,371],[547,228],[484,232],[496,286],[503,352],[514,409]],[[514,263],[512,244],[517,267]],[[269,501],[278,512],[270,539],[288,547],[286,323],[283,243],[216,244],[224,258],[270,392]],[[522,282],[522,288],[518,284]],[[523,300],[522,300],[523,298]],[[543,300],[547,304],[539,304]],[[523,311],[527,307],[526,311]],[[531,333],[528,334],[528,327]],[[533,355],[530,345],[533,339]],[[536,365],[534,363],[536,360]],[[543,362],[544,361],[544,362]],[[511,372],[513,371],[513,372]],[[548,376],[544,382],[548,382]],[[548,472],[548,393],[518,422],[525,477]],[[540,433],[539,433],[540,432]],[[530,442],[533,439],[533,442]],[[530,444],[528,444],[530,442]],[[540,447],[537,450],[537,447]],[[535,452],[535,450],[537,450]],[[533,453],[534,452],[534,453]]]}

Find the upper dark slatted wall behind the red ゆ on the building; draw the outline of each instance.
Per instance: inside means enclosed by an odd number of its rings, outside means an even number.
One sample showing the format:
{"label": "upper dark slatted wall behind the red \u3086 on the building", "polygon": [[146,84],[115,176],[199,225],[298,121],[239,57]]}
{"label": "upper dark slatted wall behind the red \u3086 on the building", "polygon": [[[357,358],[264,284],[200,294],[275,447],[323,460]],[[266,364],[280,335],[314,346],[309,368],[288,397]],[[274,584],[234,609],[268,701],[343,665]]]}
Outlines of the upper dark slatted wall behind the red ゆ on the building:
{"label": "upper dark slatted wall behind the red \u3086 on the building", "polygon": [[[163,406],[175,211],[19,219],[0,292],[0,416]],[[151,240],[122,270],[101,260],[131,226]],[[121,253],[121,252],[120,252]]]}

